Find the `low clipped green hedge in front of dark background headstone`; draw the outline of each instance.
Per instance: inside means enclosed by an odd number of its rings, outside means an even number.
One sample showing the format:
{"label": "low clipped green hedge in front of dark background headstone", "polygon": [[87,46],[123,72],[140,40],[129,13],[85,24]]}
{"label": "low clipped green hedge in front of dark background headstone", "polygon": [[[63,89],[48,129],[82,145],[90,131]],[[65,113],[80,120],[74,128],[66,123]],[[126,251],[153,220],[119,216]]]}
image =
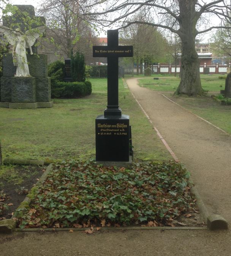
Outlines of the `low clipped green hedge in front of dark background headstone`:
{"label": "low clipped green hedge in front of dark background headstone", "polygon": [[76,98],[84,97],[92,92],[92,84],[85,82],[57,82],[52,88],[52,97],[54,98]]}

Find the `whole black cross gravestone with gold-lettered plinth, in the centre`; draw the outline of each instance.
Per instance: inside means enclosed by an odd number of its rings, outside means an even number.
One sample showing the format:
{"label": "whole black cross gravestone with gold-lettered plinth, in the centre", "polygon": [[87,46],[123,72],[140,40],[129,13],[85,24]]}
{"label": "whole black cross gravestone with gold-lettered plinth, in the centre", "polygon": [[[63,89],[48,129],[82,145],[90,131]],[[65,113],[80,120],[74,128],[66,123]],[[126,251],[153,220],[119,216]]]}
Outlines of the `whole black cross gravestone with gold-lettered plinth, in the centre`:
{"label": "whole black cross gravestone with gold-lettered plinth, in the centre", "polygon": [[133,46],[119,46],[119,31],[108,30],[108,46],[93,46],[93,57],[108,58],[108,105],[95,119],[96,161],[131,162],[129,116],[119,108],[119,57],[132,57]]}

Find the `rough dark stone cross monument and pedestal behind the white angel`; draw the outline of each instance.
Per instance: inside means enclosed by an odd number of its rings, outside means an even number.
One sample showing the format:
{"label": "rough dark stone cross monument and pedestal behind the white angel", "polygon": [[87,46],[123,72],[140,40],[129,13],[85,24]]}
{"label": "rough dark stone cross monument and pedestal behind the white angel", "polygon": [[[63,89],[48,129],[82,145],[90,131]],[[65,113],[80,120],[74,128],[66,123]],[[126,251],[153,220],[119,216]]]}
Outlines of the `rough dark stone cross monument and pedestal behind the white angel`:
{"label": "rough dark stone cross monument and pedestal behind the white angel", "polygon": [[[26,11],[28,16],[35,18],[35,10],[32,5],[16,5],[22,13],[14,14],[13,17],[3,17],[3,25],[9,27],[11,23],[20,24],[21,31],[28,30],[23,22],[23,15]],[[36,24],[32,28],[44,25],[44,17],[38,17],[40,25]],[[17,26],[16,26],[17,27]],[[14,27],[14,29],[16,29]],[[37,52],[36,46],[32,47],[33,52]],[[28,51],[27,51],[28,52]],[[51,79],[48,77],[47,55],[27,54],[30,76],[18,77],[16,66],[13,65],[12,53],[3,56],[3,76],[1,78],[0,107],[6,108],[43,108],[52,107],[51,101]]]}

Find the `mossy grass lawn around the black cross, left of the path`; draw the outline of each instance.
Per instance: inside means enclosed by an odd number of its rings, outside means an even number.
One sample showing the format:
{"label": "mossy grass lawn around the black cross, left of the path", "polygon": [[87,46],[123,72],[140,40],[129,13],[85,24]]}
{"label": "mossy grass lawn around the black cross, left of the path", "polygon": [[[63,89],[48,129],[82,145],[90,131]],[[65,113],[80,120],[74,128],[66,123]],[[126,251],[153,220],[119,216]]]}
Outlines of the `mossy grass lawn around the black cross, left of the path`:
{"label": "mossy grass lawn around the black cross, left of the path", "polygon": [[[3,159],[94,159],[95,118],[107,105],[107,80],[91,79],[92,94],[81,99],[54,99],[54,107],[0,108]],[[119,105],[130,115],[134,157],[168,160],[162,145],[130,91],[119,80]]]}

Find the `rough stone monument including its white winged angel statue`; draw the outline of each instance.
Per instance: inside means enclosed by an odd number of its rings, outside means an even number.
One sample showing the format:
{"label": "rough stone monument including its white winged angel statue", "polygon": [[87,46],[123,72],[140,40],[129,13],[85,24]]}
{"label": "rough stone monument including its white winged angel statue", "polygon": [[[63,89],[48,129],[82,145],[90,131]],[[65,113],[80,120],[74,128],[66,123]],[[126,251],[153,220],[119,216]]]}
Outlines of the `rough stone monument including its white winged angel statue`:
{"label": "rough stone monument including its white winged angel statue", "polygon": [[[28,13],[35,18],[32,5],[16,5],[21,13]],[[5,33],[9,43],[14,45],[13,56],[11,53],[3,56],[3,76],[1,78],[0,107],[6,108],[43,108],[52,107],[51,81],[47,71],[47,56],[36,54],[33,46],[36,38],[43,33],[45,28],[43,17],[40,25],[27,30],[23,16],[4,17],[1,30]],[[9,29],[10,24],[17,23],[20,27]],[[5,31],[4,31],[5,30]],[[30,49],[26,54],[25,49]]]}

